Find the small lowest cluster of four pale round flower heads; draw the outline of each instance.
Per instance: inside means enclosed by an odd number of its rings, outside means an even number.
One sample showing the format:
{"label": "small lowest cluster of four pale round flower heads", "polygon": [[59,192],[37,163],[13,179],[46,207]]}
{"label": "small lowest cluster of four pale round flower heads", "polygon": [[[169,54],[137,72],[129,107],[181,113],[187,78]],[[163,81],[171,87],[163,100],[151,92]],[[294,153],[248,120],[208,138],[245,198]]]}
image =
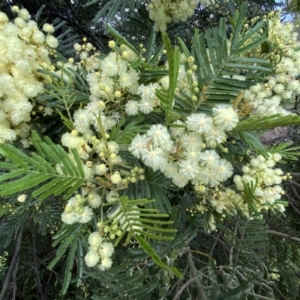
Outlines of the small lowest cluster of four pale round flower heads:
{"label": "small lowest cluster of four pale round flower heads", "polygon": [[112,266],[112,255],[114,253],[114,246],[110,242],[106,242],[99,232],[92,232],[88,237],[89,251],[84,257],[88,267],[96,266],[101,271],[107,270]]}

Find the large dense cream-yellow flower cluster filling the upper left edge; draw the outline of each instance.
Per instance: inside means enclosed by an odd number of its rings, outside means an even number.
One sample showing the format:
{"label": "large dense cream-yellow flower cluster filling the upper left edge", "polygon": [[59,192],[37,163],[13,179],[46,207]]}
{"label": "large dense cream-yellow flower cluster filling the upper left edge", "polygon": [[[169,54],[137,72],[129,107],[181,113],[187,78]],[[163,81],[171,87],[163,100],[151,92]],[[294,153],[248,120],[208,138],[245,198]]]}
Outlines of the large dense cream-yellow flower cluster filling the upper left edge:
{"label": "large dense cream-yellow flower cluster filling the upper left edge", "polygon": [[51,35],[52,25],[44,24],[39,30],[30,20],[26,9],[12,7],[17,13],[14,22],[0,12],[0,142],[11,142],[17,136],[29,135],[31,101],[43,93],[43,76],[37,69],[51,68],[49,52],[57,47]]}

